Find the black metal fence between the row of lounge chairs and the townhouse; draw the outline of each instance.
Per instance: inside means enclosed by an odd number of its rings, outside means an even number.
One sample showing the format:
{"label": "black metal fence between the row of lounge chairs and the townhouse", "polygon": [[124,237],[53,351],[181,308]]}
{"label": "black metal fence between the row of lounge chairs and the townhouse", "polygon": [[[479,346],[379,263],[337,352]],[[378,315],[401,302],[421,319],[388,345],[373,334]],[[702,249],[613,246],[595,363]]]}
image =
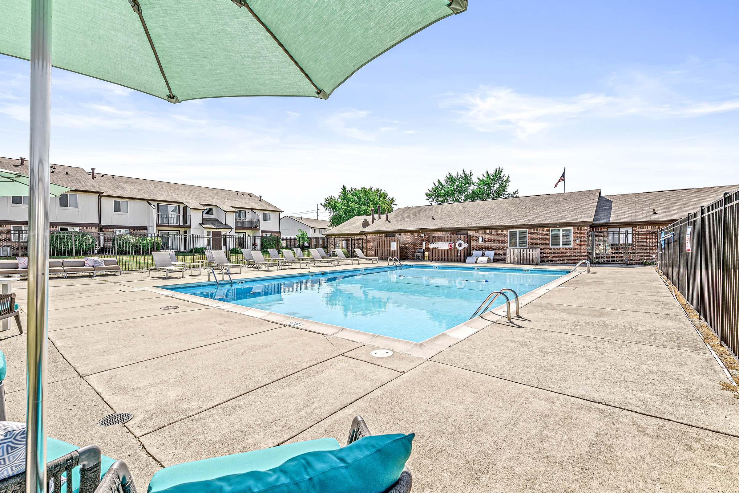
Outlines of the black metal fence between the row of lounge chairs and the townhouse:
{"label": "black metal fence between the row of lounge chairs and the townhouse", "polygon": [[[205,260],[205,251],[222,250],[229,259],[243,259],[242,248],[259,250],[268,255],[275,248],[282,250],[310,248],[333,250],[326,238],[294,238],[276,235],[252,236],[246,234],[122,234],[85,231],[52,231],[50,257],[54,259],[106,256],[118,259],[123,271],[146,271],[154,267],[152,251],[174,250],[177,260],[188,264]],[[0,257],[13,258],[28,255],[28,231],[17,228],[10,231],[10,242],[0,247]]]}

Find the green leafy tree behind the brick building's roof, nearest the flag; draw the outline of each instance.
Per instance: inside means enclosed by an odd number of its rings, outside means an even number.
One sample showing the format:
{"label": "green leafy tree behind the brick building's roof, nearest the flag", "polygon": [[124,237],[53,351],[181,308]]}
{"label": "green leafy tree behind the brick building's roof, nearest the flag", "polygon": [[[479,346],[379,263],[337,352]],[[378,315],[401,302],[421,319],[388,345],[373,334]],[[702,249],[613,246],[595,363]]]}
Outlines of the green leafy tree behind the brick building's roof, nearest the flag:
{"label": "green leafy tree behind the brick building's roof, nearest the flag", "polygon": [[518,190],[508,191],[510,183],[511,175],[503,174],[503,168],[500,166],[492,173],[486,170],[477,179],[472,178],[472,171],[463,169],[462,173],[447,173],[443,182],[436,180],[426,192],[426,199],[432,204],[448,204],[518,197]]}

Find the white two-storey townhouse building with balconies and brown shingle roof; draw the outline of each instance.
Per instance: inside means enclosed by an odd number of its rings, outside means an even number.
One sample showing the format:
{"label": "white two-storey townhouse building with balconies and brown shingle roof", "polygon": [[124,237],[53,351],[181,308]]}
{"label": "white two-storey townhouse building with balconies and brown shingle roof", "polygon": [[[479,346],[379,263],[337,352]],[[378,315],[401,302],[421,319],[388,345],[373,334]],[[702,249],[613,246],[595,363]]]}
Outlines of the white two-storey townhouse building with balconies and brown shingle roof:
{"label": "white two-storey townhouse building with balconies and brown shingle roof", "polygon": [[[28,174],[28,160],[0,157],[0,169]],[[159,234],[185,250],[188,235],[222,248],[224,235],[279,235],[281,209],[246,191],[185,185],[51,165],[51,181],[71,190],[52,198],[50,231]],[[28,197],[0,197],[0,247],[25,237]],[[177,239],[175,239],[177,238]]]}

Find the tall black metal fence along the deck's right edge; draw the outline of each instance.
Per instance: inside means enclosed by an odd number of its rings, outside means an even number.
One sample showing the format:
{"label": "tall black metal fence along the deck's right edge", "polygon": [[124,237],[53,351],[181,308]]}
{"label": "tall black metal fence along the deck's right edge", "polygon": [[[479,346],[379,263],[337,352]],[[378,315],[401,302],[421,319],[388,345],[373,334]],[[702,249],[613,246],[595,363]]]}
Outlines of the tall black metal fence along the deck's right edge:
{"label": "tall black metal fence along the deck's right edge", "polygon": [[734,356],[739,354],[739,190],[663,228],[658,266]]}

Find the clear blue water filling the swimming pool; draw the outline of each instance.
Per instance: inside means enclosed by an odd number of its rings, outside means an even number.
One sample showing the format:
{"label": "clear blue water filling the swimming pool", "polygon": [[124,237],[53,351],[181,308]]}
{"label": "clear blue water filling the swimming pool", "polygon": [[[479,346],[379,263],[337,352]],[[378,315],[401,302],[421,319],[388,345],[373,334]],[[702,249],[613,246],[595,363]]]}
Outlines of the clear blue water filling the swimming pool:
{"label": "clear blue water filling the swimming pool", "polygon": [[420,342],[465,322],[491,291],[521,296],[566,273],[406,265],[160,288]]}

